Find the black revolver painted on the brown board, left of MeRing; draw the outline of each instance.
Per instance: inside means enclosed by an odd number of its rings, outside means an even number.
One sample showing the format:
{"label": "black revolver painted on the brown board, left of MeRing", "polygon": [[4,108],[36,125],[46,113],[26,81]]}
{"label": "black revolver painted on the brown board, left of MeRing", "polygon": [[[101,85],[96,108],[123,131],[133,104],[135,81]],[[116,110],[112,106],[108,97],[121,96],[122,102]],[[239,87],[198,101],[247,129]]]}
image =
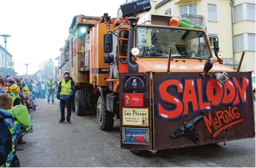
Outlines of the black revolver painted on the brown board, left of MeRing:
{"label": "black revolver painted on the brown board, left of MeRing", "polygon": [[173,141],[178,141],[182,136],[188,138],[191,142],[198,144],[199,138],[196,130],[196,122],[203,119],[204,114],[196,116],[194,119],[187,121],[176,130],[173,134],[169,134]]}

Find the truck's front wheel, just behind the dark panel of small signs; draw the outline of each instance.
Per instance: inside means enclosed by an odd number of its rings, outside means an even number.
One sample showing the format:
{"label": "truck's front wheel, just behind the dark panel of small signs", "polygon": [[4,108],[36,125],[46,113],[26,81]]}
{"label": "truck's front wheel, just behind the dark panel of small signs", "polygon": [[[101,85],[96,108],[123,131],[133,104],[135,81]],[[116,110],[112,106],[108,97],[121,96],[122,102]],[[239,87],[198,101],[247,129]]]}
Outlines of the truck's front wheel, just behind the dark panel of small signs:
{"label": "truck's front wheel, just behind the dark panel of small signs", "polygon": [[106,111],[104,101],[101,96],[97,102],[98,125],[101,130],[110,131],[113,128],[114,119],[110,112]]}

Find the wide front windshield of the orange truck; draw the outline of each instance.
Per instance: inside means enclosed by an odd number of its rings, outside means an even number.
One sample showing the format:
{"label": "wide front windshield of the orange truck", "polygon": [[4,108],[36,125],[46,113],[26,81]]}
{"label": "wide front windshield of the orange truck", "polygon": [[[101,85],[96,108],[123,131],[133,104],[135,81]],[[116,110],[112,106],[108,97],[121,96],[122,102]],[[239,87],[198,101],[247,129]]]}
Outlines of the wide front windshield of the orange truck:
{"label": "wide front windshield of the orange truck", "polygon": [[169,47],[172,57],[208,59],[211,56],[207,36],[201,31],[137,27],[136,47],[140,50],[138,57],[166,58]]}

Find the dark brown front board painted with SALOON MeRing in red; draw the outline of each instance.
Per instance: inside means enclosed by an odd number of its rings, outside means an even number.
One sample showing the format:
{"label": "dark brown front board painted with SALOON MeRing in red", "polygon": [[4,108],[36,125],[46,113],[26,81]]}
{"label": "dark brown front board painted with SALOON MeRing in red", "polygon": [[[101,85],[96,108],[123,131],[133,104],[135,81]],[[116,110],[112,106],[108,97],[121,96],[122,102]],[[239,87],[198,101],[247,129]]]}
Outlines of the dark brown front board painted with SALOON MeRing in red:
{"label": "dark brown front board painted with SALOON MeRing in red", "polygon": [[155,72],[155,150],[253,137],[251,72],[225,85],[197,72]]}

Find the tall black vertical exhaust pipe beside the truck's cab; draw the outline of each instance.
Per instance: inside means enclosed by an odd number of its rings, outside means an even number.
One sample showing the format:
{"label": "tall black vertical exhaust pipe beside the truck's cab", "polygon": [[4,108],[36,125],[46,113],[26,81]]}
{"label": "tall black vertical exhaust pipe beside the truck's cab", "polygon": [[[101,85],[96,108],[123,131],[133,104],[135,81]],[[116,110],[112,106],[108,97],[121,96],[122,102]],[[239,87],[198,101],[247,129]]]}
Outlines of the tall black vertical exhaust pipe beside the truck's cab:
{"label": "tall black vertical exhaust pipe beside the truck's cab", "polygon": [[134,27],[137,25],[137,18],[130,17],[127,19],[129,23],[129,41],[128,41],[128,50],[127,50],[127,59],[128,59],[128,71],[129,72],[139,72],[139,67],[136,62],[132,62],[131,49],[134,45]]}

